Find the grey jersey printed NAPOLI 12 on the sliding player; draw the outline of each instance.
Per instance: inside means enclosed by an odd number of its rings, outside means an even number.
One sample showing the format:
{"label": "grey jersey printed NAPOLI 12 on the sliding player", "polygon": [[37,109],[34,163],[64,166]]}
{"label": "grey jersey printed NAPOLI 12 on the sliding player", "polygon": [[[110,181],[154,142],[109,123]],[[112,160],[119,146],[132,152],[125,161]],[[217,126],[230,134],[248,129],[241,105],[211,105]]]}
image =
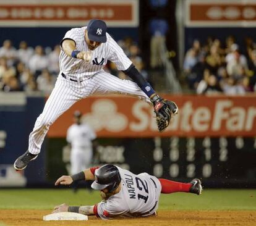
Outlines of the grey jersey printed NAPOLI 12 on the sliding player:
{"label": "grey jersey printed NAPOLI 12 on the sliding player", "polygon": [[96,216],[101,219],[113,217],[146,217],[158,209],[161,183],[158,178],[147,173],[132,174],[129,170],[117,167],[121,175],[122,187],[119,193],[110,196],[94,207]]}

